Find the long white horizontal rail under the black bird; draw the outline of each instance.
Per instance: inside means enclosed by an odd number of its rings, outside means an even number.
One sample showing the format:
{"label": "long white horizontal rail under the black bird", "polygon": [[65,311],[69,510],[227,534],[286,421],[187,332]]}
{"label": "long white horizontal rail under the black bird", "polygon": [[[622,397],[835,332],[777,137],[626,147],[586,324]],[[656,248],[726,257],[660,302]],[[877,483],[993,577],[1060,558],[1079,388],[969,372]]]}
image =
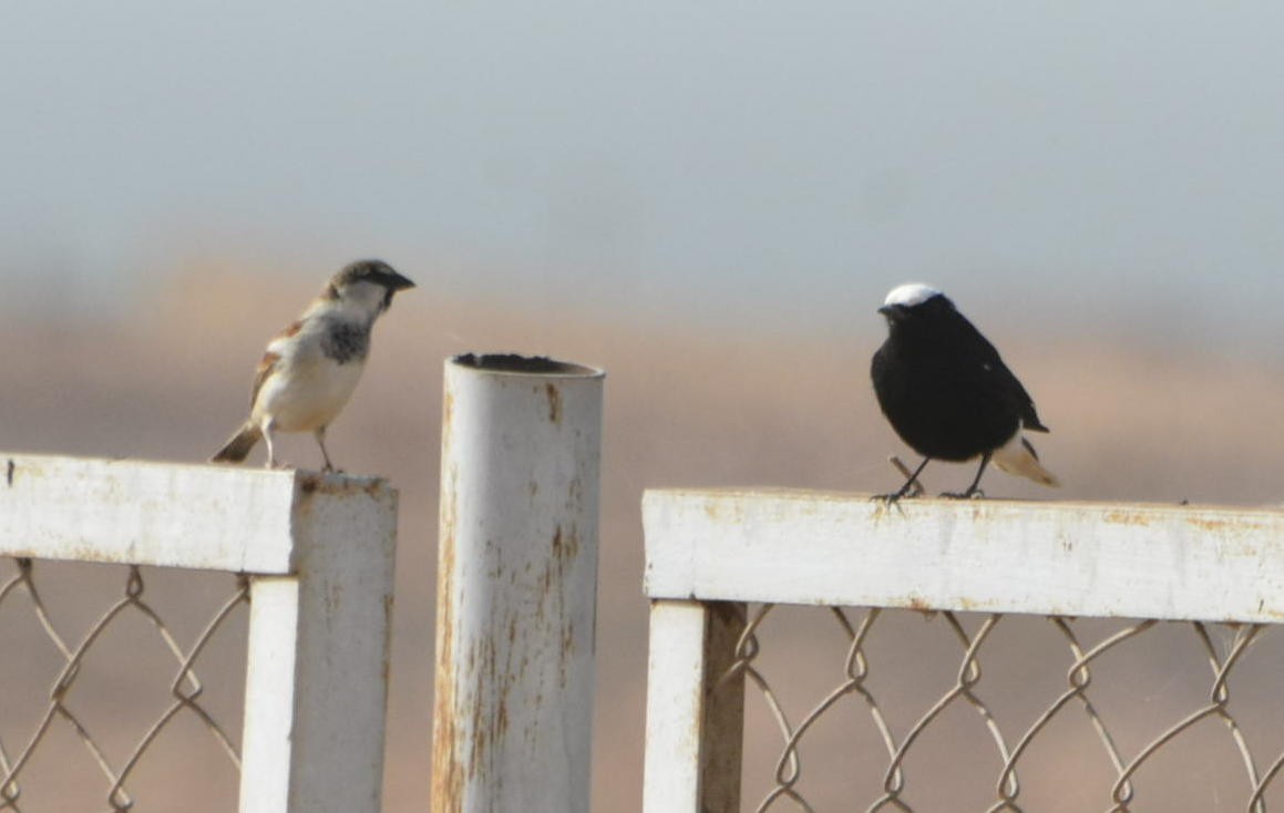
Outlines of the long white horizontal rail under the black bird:
{"label": "long white horizontal rail under the black bird", "polygon": [[1280,622],[1284,511],[648,491],[656,599]]}

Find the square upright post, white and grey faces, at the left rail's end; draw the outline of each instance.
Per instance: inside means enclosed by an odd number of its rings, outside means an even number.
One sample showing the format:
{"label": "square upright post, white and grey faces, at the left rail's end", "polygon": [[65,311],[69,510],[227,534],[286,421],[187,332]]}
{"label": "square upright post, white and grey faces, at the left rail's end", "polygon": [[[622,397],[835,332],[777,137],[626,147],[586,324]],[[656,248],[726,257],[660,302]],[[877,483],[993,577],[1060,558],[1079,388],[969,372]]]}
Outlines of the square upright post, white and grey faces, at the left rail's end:
{"label": "square upright post, white and grey faces, at the left rail's end", "polygon": [[243,813],[380,810],[397,494],[330,484],[294,505],[295,575],[253,583]]}

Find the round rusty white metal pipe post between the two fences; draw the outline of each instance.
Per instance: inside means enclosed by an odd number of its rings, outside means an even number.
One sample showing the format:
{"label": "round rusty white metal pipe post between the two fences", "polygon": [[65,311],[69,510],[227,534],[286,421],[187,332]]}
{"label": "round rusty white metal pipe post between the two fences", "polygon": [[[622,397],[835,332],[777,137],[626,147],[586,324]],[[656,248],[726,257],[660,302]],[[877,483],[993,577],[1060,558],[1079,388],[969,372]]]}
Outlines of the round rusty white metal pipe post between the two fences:
{"label": "round rusty white metal pipe post between the two fences", "polygon": [[588,810],[602,379],[446,365],[434,810]]}

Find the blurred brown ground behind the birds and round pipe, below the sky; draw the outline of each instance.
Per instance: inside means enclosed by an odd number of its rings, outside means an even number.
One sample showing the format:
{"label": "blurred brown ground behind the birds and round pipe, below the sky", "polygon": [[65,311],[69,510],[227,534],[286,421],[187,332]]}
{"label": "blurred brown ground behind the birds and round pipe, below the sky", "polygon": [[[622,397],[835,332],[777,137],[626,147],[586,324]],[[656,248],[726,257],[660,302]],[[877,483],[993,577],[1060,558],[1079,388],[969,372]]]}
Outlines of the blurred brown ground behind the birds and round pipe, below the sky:
{"label": "blurred brown ground behind the birds and round pipe, below the sky", "polygon": [[[329,446],[352,473],[401,489],[386,804],[426,809],[442,361],[464,351],[550,354],[607,370],[594,731],[596,810],[641,804],[647,605],[638,503],[647,487],[790,485],[887,491],[886,456],[905,450],[877,411],[869,313],[838,337],[756,335],[752,325],[594,320],[550,304],[496,308],[451,299],[430,280],[398,298]],[[0,324],[0,448],[204,460],[244,417],[253,366],[321,280],[280,281],[211,263],[112,324]],[[1048,344],[982,328],[1035,396],[1053,434],[1034,438],[1064,483],[1048,492],[1002,473],[991,496],[1158,502],[1281,501],[1284,365],[1109,337]],[[285,457],[315,466],[311,438]],[[256,465],[261,457],[256,452]],[[971,468],[933,464],[932,491]],[[802,543],[800,542],[800,546]],[[145,807],[143,809],[146,809]]]}

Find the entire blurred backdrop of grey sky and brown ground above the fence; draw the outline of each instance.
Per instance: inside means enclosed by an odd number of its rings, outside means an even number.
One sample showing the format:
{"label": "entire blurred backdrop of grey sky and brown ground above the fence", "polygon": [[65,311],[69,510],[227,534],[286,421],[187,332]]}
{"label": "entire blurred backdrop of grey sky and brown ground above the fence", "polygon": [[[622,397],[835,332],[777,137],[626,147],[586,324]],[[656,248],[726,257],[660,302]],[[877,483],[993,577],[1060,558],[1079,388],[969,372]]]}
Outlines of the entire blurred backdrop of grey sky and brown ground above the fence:
{"label": "entire blurred backdrop of grey sky and brown ground above the fence", "polygon": [[413,810],[442,360],[605,367],[594,809],[637,809],[642,489],[899,485],[868,384],[899,283],[946,290],[1053,429],[1064,487],[990,496],[1280,502],[1281,35],[1157,0],[9,4],[0,448],[202,461],[333,271],[419,283],[329,435],[402,491]]}

